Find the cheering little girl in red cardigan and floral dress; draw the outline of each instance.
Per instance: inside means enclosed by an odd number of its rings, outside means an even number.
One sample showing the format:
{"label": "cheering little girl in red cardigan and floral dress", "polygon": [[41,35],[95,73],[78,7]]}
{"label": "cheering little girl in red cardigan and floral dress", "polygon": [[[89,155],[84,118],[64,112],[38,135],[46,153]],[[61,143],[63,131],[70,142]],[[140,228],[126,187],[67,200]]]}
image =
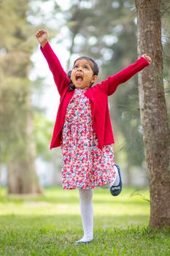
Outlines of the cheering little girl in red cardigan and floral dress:
{"label": "cheering little girl in red cardigan and floral dress", "polygon": [[66,74],[47,42],[47,31],[37,31],[36,38],[61,96],[50,148],[62,149],[63,189],[79,189],[80,194],[84,236],[74,244],[88,244],[93,240],[93,189],[109,188],[113,196],[122,190],[120,168],[114,164],[108,96],[120,83],[147,67],[151,59],[144,54],[134,64],[93,86],[98,78],[96,61],[82,56]]}

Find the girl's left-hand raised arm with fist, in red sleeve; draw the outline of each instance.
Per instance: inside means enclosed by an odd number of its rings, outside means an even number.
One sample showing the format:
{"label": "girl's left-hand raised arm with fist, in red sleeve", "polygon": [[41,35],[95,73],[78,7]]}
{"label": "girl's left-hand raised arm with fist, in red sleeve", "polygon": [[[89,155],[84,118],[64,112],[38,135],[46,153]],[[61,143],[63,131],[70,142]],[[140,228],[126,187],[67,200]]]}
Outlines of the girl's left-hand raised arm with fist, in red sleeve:
{"label": "girl's left-hand raised arm with fist, in red sleeve", "polygon": [[40,48],[45,56],[45,59],[47,60],[47,64],[53,73],[53,78],[58,88],[58,93],[61,95],[63,93],[63,89],[69,85],[70,80],[67,77],[66,72],[64,72],[63,67],[61,67],[61,63],[58,60],[58,57],[55,55],[53,49],[50,47],[49,42],[47,42],[47,31],[43,29],[37,31],[36,38],[41,45]]}

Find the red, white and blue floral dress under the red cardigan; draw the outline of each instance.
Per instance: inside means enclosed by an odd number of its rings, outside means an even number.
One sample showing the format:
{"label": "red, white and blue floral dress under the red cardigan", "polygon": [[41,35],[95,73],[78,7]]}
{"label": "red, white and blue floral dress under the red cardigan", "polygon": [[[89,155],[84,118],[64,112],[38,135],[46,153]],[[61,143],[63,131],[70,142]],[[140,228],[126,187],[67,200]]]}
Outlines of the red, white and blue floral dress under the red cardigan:
{"label": "red, white and blue floral dress under the red cardigan", "polygon": [[62,132],[63,189],[94,189],[115,179],[112,144],[98,148],[92,120],[90,99],[75,89]]}

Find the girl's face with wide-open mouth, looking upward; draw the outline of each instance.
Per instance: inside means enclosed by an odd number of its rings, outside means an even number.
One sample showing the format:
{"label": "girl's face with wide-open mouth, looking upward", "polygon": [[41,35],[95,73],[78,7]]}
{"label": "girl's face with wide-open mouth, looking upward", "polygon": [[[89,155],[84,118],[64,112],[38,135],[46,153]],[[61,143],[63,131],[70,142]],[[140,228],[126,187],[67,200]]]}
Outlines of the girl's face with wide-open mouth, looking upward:
{"label": "girl's face with wide-open mouth, looking upward", "polygon": [[93,63],[86,59],[78,59],[72,69],[71,80],[76,88],[88,89],[96,82],[97,75],[93,75]]}

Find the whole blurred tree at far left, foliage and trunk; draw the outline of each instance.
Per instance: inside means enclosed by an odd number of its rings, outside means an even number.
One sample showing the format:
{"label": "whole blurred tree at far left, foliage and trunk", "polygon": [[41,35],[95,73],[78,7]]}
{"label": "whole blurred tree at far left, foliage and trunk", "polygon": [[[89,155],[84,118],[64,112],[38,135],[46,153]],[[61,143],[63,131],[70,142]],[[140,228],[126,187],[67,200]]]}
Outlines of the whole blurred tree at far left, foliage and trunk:
{"label": "whole blurred tree at far left, foliage and trunk", "polygon": [[8,193],[42,192],[36,175],[33,113],[28,80],[34,32],[28,0],[0,1],[0,150],[8,167]]}

